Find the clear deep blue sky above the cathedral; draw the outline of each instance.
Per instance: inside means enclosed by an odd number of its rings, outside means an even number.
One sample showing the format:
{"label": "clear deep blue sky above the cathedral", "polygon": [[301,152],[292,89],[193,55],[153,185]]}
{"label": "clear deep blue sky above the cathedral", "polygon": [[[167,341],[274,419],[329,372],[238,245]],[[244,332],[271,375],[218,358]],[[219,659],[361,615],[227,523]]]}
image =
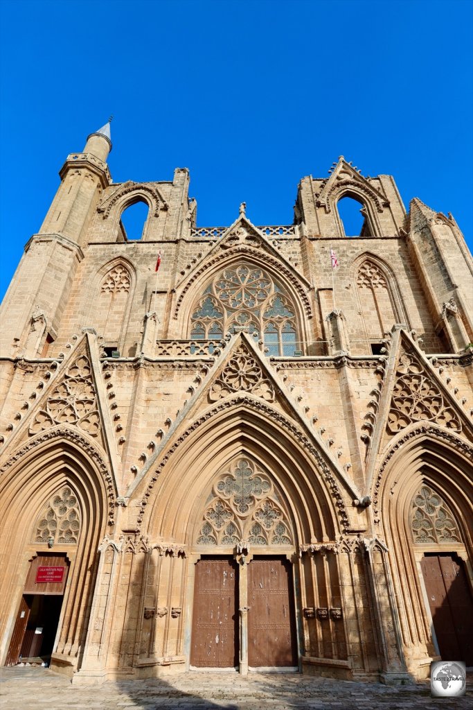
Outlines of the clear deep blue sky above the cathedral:
{"label": "clear deep blue sky above the cathedral", "polygon": [[1,283],[68,153],[113,114],[116,182],[191,171],[198,224],[291,224],[343,154],[473,244],[473,3],[1,2]]}

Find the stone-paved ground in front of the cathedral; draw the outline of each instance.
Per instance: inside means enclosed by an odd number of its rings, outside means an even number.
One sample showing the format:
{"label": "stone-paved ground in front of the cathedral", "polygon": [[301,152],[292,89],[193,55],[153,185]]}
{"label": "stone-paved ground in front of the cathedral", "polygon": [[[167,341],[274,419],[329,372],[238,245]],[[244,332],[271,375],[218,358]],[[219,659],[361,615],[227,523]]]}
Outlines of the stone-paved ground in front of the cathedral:
{"label": "stone-paved ground in front of the cathedral", "polygon": [[167,680],[72,685],[41,667],[0,669],[2,710],[470,710],[473,678],[462,698],[431,698],[430,684],[386,687],[299,674],[185,673]]}

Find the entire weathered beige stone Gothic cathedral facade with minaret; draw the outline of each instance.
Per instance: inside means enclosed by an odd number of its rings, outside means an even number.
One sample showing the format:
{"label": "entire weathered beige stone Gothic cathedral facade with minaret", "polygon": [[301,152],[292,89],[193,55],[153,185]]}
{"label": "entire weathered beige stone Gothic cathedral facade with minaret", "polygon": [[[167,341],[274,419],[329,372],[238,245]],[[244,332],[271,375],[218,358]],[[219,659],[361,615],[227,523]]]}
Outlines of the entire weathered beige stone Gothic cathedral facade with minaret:
{"label": "entire weathered beige stone Gothic cathedral facade with minaret", "polygon": [[[196,569],[227,559],[246,673],[267,559],[289,562],[293,665],[425,677],[443,630],[423,560],[463,566],[471,603],[473,271],[455,220],[418,199],[406,214],[390,175],[340,157],[301,180],[294,224],[255,226],[242,204],[197,227],[187,169],[116,184],[110,148],[107,125],[67,157],[2,306],[1,662],[23,648],[21,605],[61,593],[51,665],[74,682],[201,666]],[[48,559],[61,589],[28,581]]]}

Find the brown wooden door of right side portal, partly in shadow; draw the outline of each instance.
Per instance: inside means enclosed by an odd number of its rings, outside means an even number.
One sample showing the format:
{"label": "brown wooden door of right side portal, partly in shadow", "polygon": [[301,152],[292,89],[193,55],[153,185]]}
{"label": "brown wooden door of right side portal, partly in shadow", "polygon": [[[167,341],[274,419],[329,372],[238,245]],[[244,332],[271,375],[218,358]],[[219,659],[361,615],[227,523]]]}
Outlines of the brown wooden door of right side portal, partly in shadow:
{"label": "brown wooden door of right side portal, partly in shadow", "polygon": [[442,659],[473,665],[473,599],[462,560],[425,555],[421,567]]}

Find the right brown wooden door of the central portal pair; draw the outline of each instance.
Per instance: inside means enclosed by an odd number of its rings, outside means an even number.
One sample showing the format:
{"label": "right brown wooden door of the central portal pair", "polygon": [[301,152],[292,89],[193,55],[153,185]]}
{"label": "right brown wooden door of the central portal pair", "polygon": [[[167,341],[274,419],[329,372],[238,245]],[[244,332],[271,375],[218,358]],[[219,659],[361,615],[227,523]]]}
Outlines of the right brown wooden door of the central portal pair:
{"label": "right brown wooden door of the central portal pair", "polygon": [[248,665],[297,665],[291,564],[253,559],[248,565]]}

